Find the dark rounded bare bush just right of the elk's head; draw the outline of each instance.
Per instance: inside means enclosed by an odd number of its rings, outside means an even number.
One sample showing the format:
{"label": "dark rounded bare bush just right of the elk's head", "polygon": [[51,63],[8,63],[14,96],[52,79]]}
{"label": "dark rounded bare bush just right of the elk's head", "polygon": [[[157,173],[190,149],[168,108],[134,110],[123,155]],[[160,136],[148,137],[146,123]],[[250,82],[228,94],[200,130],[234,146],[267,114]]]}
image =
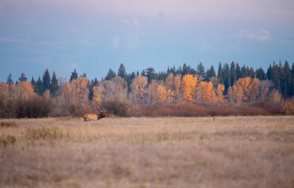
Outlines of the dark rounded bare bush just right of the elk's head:
{"label": "dark rounded bare bush just right of the elk's head", "polygon": [[120,117],[134,116],[135,108],[131,103],[124,100],[107,100],[102,102],[102,109],[105,109],[107,113]]}

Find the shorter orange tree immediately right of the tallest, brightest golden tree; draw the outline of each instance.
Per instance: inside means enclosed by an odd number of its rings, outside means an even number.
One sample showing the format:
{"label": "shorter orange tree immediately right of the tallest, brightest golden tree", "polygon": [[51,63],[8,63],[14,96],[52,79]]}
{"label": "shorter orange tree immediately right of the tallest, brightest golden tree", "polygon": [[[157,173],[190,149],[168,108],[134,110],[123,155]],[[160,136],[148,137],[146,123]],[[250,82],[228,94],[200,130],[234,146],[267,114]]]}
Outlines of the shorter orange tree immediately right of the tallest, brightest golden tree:
{"label": "shorter orange tree immediately right of the tallest, brightest golden tree", "polygon": [[213,89],[213,83],[211,81],[201,81],[201,100],[204,103],[213,103],[216,102],[216,93]]}

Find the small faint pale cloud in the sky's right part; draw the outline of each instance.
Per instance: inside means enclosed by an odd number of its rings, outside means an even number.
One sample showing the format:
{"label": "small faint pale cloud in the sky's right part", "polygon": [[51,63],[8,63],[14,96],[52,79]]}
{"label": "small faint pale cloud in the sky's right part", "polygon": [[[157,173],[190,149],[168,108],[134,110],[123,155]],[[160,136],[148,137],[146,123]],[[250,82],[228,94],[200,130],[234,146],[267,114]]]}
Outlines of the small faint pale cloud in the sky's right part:
{"label": "small faint pale cloud in the sky's right part", "polygon": [[260,29],[257,32],[252,32],[249,30],[240,30],[237,33],[232,34],[235,38],[247,38],[249,40],[256,40],[259,42],[266,42],[271,38],[271,33],[269,30]]}

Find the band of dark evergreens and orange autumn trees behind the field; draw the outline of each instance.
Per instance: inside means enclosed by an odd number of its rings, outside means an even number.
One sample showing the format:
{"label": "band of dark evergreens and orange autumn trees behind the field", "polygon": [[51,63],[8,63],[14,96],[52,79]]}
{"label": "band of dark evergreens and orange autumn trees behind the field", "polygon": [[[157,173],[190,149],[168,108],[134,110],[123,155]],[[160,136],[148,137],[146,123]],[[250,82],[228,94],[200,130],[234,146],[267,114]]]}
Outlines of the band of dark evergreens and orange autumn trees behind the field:
{"label": "band of dark evergreens and orange autumn trees behind the field", "polygon": [[48,69],[37,80],[9,74],[0,83],[1,118],[81,116],[106,111],[116,116],[208,116],[293,114],[294,64],[253,69],[219,64],[196,69],[187,64],[167,71],[127,73],[124,64],[100,81],[71,72],[69,81]]}

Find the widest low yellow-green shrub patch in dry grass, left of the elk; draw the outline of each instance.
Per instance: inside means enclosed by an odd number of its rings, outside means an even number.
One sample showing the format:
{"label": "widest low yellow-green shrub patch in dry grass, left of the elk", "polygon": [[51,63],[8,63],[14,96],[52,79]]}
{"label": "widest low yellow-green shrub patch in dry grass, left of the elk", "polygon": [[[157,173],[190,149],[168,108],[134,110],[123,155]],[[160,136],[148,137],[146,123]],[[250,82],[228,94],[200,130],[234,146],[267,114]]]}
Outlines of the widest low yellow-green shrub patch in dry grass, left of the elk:
{"label": "widest low yellow-green shrub patch in dry grass, left of the elk", "polygon": [[26,139],[32,140],[54,140],[66,139],[69,134],[57,127],[42,127],[37,129],[27,129]]}

